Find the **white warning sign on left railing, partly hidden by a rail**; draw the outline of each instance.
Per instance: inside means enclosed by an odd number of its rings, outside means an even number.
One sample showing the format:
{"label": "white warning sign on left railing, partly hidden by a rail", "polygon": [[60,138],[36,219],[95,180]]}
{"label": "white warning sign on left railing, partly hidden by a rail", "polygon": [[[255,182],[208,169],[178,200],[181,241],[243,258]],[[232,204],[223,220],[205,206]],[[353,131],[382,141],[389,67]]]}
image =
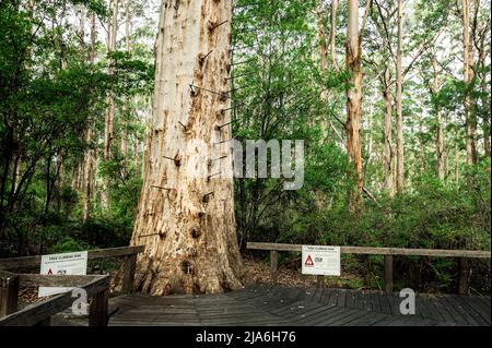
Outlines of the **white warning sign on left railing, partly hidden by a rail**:
{"label": "white warning sign on left railing, partly hidden by a rail", "polygon": [[[40,273],[44,275],[86,275],[87,252],[43,255]],[[51,296],[72,290],[72,288],[39,287],[38,297]]]}

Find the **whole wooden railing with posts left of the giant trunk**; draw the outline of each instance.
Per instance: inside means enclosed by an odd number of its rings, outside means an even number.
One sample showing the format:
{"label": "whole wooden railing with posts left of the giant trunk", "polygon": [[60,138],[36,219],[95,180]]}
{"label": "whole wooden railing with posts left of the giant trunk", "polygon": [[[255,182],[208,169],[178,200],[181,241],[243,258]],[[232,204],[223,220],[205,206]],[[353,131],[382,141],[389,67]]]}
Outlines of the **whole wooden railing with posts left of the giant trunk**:
{"label": "whole wooden railing with posts left of the giant trunk", "polygon": [[[137,255],[143,247],[91,250],[89,260],[125,257],[122,292],[134,291],[134,271]],[[17,274],[15,269],[39,267],[40,256],[0,259],[0,326],[49,325],[52,315],[70,308],[75,301],[71,291],[57,295],[37,304],[17,311],[19,289],[21,287],[70,287],[83,289],[87,300],[92,298],[89,310],[90,326],[106,326],[108,322],[108,297],[110,276],[58,276],[38,274]]]}

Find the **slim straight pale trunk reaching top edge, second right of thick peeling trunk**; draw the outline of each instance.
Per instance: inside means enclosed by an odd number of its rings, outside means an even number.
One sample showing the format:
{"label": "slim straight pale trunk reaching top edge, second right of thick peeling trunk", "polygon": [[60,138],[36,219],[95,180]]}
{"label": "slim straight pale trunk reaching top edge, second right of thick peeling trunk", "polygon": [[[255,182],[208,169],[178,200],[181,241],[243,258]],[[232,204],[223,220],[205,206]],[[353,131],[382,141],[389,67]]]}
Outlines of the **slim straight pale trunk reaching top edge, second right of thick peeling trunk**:
{"label": "slim straight pale trunk reaching top edge, second right of thick peeling trunk", "polygon": [[397,192],[403,192],[405,185],[405,163],[403,163],[403,112],[401,107],[401,91],[403,84],[402,76],[402,46],[403,46],[403,1],[398,0],[398,48],[396,63],[396,96],[395,106],[397,115]]}

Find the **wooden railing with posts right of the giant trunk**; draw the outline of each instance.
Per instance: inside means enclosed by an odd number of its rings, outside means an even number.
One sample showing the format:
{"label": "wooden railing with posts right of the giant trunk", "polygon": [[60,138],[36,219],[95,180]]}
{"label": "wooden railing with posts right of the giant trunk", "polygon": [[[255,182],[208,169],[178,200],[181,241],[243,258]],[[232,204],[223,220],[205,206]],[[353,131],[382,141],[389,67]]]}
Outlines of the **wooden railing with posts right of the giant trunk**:
{"label": "wooden railing with posts right of the giant trunk", "polygon": [[[270,273],[273,283],[278,279],[278,252],[295,251],[301,252],[301,244],[280,244],[280,243],[256,243],[248,242],[249,250],[270,251]],[[385,256],[385,291],[393,292],[393,257],[402,256],[434,256],[434,257],[457,257],[459,259],[459,283],[458,292],[468,295],[470,263],[469,259],[490,259],[490,251],[476,250],[438,250],[438,249],[405,249],[405,248],[371,248],[371,247],[340,247],[342,254],[363,254],[363,255],[384,255]],[[323,276],[317,277],[318,285],[324,280]]]}

